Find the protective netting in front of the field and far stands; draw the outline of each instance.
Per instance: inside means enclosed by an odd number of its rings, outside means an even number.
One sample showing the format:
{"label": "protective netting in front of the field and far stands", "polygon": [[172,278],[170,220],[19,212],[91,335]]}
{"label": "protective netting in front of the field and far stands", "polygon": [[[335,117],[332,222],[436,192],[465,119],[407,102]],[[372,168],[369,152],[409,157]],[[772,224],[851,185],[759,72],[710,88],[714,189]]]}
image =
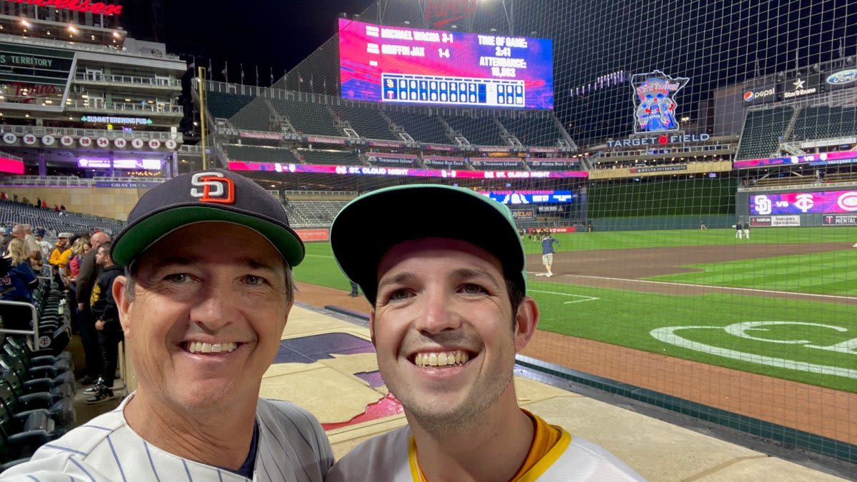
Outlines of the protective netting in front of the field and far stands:
{"label": "protective netting in front of the field and far stands", "polygon": [[335,36],[271,89],[207,84],[215,162],[300,227],[393,184],[508,202],[542,307],[524,354],[857,460],[857,4],[390,0],[344,21],[550,39],[554,109],[343,99]]}

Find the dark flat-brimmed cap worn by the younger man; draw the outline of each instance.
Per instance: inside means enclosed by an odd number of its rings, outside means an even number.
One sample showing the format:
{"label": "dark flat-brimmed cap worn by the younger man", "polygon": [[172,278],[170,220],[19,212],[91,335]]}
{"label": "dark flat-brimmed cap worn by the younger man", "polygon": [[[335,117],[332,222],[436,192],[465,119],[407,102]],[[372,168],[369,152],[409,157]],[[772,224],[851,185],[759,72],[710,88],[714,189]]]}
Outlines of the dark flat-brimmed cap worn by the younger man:
{"label": "dark flat-brimmed cap worn by the younger man", "polygon": [[[383,226],[382,234],[365,233]],[[512,211],[474,190],[442,184],[410,184],[375,190],[349,202],[330,229],[333,257],[363,289],[378,294],[378,265],[390,248],[411,239],[452,238],[475,244],[500,260],[503,275],[526,293],[524,244]]]}

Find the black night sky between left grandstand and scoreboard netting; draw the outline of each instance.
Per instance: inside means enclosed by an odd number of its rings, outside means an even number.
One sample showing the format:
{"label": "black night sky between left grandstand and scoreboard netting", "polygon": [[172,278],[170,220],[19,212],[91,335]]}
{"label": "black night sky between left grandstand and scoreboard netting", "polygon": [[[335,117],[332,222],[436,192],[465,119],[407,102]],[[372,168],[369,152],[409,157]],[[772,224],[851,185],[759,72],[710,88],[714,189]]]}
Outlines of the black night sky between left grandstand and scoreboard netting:
{"label": "black night sky between left grandstand and scoreboard netting", "polygon": [[197,56],[202,67],[213,65],[213,80],[224,81],[221,71],[229,64],[229,80],[259,84],[281,78],[303,58],[333,36],[340,12],[355,14],[372,0],[261,0],[207,2],[165,1],[167,51]]}

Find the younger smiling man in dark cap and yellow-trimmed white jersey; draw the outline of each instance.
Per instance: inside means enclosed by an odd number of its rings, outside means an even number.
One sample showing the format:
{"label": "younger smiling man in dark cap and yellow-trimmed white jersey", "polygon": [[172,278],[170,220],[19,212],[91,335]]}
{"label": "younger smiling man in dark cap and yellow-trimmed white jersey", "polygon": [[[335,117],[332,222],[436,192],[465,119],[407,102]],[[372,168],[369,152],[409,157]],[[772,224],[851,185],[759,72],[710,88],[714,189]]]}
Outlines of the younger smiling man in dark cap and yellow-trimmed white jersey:
{"label": "younger smiling man in dark cap and yellow-trimmed white jersey", "polygon": [[[354,243],[367,220],[421,199],[431,209],[397,216],[369,246]],[[640,480],[607,450],[518,407],[515,353],[539,310],[506,206],[443,185],[376,190],[343,208],[331,245],[372,304],[378,367],[408,425],[352,449],[328,481]]]}

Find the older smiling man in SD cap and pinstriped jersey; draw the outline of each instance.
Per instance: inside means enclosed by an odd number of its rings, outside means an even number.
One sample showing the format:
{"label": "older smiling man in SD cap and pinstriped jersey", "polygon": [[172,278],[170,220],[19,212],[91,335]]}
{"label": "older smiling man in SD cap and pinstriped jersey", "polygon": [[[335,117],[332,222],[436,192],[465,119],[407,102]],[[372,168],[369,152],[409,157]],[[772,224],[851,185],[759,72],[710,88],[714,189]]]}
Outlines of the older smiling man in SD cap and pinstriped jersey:
{"label": "older smiling man in SD cap and pinstriped jersey", "polygon": [[137,390],[0,479],[321,481],[321,425],[259,398],[303,255],[285,209],[247,178],[211,170],[148,191],[112,249]]}

